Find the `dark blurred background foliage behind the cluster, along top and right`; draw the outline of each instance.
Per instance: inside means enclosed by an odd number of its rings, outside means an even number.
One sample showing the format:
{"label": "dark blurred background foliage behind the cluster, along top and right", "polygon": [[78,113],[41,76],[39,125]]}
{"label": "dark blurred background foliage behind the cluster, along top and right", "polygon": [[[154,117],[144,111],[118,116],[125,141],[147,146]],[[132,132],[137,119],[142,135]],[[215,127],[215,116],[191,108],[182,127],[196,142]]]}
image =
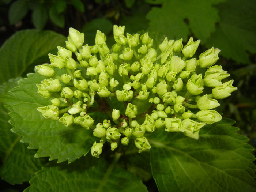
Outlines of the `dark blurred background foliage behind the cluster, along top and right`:
{"label": "dark blurred background foliage behind the cluster, along top and right", "polygon": [[223,99],[218,111],[236,120],[256,147],[255,0],[0,0],[1,45],[16,31],[37,28],[67,36],[69,27],[93,44],[96,30],[108,36],[113,24],[132,33],[149,30],[160,40],[192,36],[201,39],[198,52],[221,49],[217,64],[229,71],[238,90]]}

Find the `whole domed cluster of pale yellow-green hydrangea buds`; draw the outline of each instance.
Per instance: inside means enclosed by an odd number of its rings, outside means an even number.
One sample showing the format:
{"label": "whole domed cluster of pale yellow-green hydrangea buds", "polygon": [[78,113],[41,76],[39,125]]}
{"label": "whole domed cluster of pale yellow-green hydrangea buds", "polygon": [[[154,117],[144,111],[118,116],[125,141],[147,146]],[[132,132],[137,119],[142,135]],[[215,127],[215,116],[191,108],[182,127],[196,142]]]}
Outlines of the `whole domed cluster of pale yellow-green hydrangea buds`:
{"label": "whole domed cluster of pale yellow-green hydrangea buds", "polygon": [[[99,30],[95,45],[89,46],[84,45],[83,33],[70,28],[67,48],[58,46],[57,55],[49,54],[50,64],[35,67],[48,78],[37,84],[38,93],[52,98],[51,105],[38,108],[45,118],[92,130],[99,138],[91,148],[95,157],[105,142],[111,150],[131,140],[139,153],[150,149],[145,133],[157,129],[198,139],[200,128],[221,120],[214,110],[219,106],[216,99],[230,96],[237,88],[233,80],[223,83],[230,75],[214,65],[219,49],[212,47],[196,59],[200,40],[192,37],[185,46],[182,39],[167,37],[154,45],[148,33],[124,35],[124,26],[117,25],[113,33],[116,44],[111,48]],[[118,106],[110,108],[113,97],[124,112]],[[145,104],[144,109],[138,110],[138,102]],[[109,119],[94,122],[90,113],[97,111]]]}

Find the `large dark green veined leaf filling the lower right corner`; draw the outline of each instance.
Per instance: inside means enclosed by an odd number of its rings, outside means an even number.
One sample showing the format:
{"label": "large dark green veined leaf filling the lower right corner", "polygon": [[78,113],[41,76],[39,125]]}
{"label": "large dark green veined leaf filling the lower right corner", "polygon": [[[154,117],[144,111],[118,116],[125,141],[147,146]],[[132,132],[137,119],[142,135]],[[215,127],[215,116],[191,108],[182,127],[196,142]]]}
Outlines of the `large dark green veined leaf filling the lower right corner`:
{"label": "large dark green veined leaf filling the lower right corner", "polygon": [[151,166],[159,191],[255,191],[255,157],[233,120],[206,125],[199,140],[159,130],[151,136]]}

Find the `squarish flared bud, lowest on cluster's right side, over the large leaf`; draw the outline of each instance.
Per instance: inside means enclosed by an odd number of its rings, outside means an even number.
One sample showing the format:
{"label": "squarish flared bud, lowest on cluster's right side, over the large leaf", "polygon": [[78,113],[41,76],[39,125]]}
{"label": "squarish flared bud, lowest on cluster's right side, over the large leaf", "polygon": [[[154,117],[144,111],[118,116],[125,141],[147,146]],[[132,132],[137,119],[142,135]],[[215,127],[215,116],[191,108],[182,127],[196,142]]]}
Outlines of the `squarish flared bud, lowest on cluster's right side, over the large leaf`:
{"label": "squarish flared bud, lowest on cluster's right side, over the large leaf", "polygon": [[181,124],[182,124],[182,127],[184,127],[185,129],[185,131],[183,132],[184,135],[193,139],[198,139],[199,129],[205,125],[205,123],[202,123],[202,122],[199,123],[189,118],[184,119]]}

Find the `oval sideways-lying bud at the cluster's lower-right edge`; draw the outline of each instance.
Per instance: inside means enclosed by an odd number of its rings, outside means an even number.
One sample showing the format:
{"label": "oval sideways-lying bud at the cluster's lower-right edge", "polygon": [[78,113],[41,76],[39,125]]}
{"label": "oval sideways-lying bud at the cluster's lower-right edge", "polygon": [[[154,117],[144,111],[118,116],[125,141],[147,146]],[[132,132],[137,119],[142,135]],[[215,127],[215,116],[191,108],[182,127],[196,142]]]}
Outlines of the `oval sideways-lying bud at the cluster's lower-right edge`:
{"label": "oval sideways-lying bud at the cluster's lower-right edge", "polygon": [[196,117],[207,124],[218,122],[222,119],[222,116],[215,110],[201,110],[196,113]]}

